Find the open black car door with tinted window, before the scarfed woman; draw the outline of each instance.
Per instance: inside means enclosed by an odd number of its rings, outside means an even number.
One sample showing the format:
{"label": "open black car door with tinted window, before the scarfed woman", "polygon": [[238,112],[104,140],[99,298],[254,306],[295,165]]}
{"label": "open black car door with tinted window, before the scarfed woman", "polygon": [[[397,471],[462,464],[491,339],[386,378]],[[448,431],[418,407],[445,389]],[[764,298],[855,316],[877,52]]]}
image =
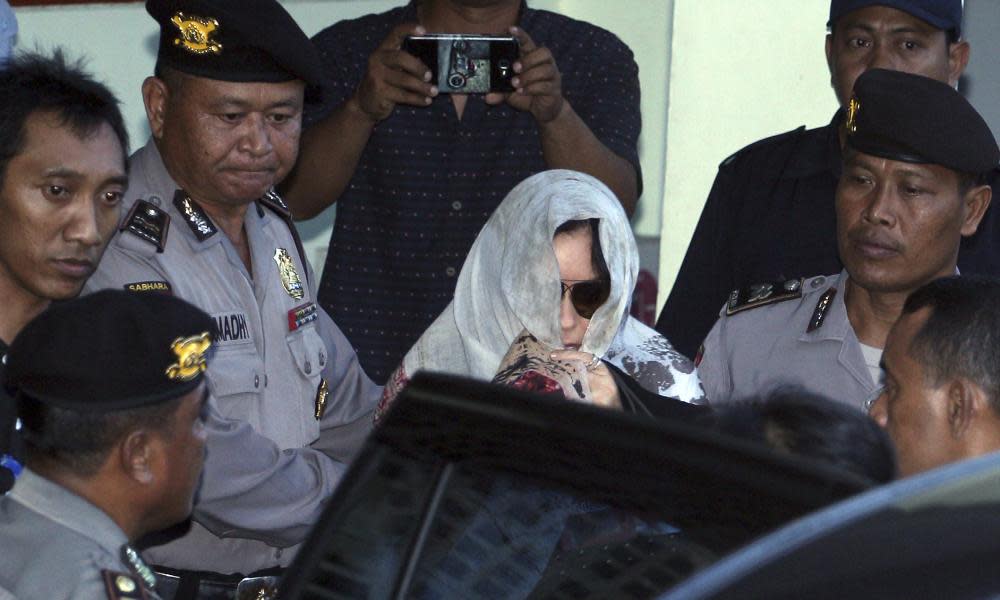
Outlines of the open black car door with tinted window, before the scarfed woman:
{"label": "open black car door with tinted window, before the scarfed woman", "polygon": [[684,422],[418,375],[282,598],[648,598],[869,483]]}

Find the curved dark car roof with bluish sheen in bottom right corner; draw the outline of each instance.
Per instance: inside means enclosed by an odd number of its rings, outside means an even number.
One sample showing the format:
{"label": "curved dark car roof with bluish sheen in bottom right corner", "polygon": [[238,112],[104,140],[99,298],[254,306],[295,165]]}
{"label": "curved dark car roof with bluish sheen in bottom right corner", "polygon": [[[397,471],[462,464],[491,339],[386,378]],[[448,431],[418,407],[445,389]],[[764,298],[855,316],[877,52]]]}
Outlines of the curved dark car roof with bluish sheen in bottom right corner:
{"label": "curved dark car roof with bluish sheen in bottom right corner", "polygon": [[994,453],[800,519],[663,598],[996,598],[998,561],[1000,453]]}

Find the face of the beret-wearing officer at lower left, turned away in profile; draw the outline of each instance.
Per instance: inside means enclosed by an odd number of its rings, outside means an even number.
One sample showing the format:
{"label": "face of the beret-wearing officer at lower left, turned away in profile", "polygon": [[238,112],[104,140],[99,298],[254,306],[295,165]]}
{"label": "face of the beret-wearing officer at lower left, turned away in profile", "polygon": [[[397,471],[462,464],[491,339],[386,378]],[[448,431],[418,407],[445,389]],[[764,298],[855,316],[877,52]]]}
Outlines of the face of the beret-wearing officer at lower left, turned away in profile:
{"label": "face of the beret-wearing officer at lower left, turned away in profile", "polygon": [[163,522],[167,527],[191,514],[198,479],[205,463],[205,421],[208,390],[204,383],[186,394],[163,433],[166,466],[161,488]]}

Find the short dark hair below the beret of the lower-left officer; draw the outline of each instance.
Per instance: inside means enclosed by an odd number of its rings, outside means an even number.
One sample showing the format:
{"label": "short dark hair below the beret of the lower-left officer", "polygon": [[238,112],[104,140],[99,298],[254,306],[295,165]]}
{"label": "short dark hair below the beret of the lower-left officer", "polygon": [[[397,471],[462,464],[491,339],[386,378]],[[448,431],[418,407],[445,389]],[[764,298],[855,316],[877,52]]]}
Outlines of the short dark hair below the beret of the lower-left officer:
{"label": "short dark hair below the beret of the lower-left officer", "polygon": [[59,408],[20,394],[21,437],[28,466],[39,460],[87,477],[97,473],[119,440],[136,429],[171,433],[184,396],[167,402],[108,412]]}

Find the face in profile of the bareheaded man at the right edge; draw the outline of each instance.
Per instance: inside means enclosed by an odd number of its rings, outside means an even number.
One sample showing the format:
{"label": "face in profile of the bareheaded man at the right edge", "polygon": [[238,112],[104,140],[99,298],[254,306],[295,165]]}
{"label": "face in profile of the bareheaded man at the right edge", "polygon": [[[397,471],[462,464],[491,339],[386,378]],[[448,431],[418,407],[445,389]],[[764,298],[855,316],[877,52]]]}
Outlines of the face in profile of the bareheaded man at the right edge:
{"label": "face in profile of the bareheaded man at the right edge", "polygon": [[907,477],[961,458],[948,420],[948,386],[931,386],[924,366],[910,355],[910,344],[930,309],[896,321],[882,354],[885,388],[872,406],[872,417],[896,445],[899,474]]}

